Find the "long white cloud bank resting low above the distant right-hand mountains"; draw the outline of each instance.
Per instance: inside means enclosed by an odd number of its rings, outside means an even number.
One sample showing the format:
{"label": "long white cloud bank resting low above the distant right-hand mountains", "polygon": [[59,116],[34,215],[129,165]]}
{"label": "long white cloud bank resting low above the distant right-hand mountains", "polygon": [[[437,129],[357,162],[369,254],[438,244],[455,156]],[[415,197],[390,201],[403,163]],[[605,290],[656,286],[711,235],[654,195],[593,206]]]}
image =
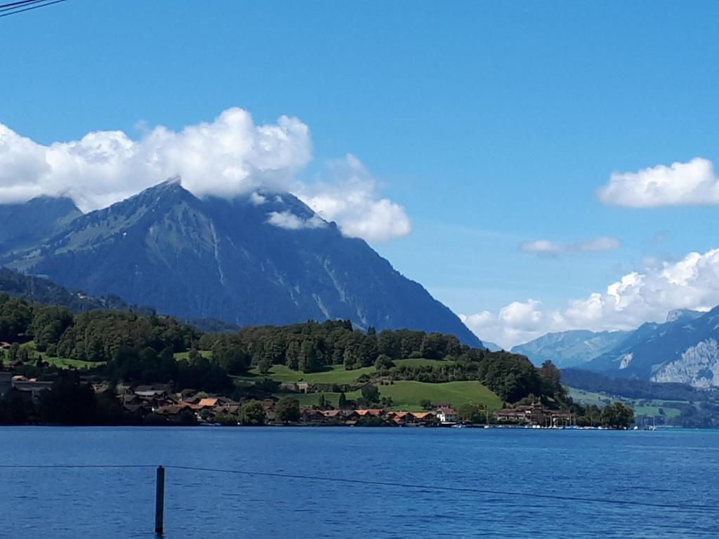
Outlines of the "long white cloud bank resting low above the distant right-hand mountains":
{"label": "long white cloud bank resting low above the distant right-hand mountains", "polygon": [[661,322],[669,310],[708,310],[719,305],[719,249],[692,252],[623,275],[604,292],[570,300],[564,308],[545,309],[539,300],[514,302],[498,313],[462,315],[480,338],[510,348],[554,331],[630,330],[647,321]]}

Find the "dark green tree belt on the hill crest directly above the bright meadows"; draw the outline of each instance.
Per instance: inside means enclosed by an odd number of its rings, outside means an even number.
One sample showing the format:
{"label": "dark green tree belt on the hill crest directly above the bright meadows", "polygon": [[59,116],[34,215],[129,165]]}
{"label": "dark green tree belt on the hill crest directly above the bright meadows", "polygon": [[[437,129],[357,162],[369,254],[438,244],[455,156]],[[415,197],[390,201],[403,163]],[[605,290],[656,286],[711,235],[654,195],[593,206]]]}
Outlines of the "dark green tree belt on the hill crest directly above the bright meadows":
{"label": "dark green tree belt on the hill crest directly above the bright meadows", "polygon": [[[377,333],[354,331],[349,321],[307,322],[293,326],[244,328],[238,333],[208,333],[199,340],[231,374],[257,367],[260,374],[273,365],[301,372],[317,372],[334,365],[352,370],[374,366],[377,377],[418,382],[477,380],[503,400],[516,402],[527,395],[547,395],[567,402],[559,370],[551,363],[534,367],[524,356],[472,349],[451,335],[411,330]],[[395,366],[399,359],[443,359],[440,366]]]}

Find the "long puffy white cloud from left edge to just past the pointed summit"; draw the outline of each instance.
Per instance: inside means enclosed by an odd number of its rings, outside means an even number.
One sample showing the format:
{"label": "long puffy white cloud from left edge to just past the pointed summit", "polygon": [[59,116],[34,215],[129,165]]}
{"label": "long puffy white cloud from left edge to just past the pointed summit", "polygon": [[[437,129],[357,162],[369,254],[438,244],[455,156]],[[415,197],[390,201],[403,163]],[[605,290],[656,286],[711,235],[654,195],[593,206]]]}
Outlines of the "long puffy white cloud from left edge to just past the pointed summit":
{"label": "long puffy white cloud from left edge to just past the pointed summit", "polygon": [[256,125],[242,109],[175,132],[163,126],[134,141],[121,131],[49,146],[0,124],[0,202],[69,196],[82,211],[104,208],[175,175],[192,193],[232,196],[283,188],[311,158],[308,127],[281,116]]}

